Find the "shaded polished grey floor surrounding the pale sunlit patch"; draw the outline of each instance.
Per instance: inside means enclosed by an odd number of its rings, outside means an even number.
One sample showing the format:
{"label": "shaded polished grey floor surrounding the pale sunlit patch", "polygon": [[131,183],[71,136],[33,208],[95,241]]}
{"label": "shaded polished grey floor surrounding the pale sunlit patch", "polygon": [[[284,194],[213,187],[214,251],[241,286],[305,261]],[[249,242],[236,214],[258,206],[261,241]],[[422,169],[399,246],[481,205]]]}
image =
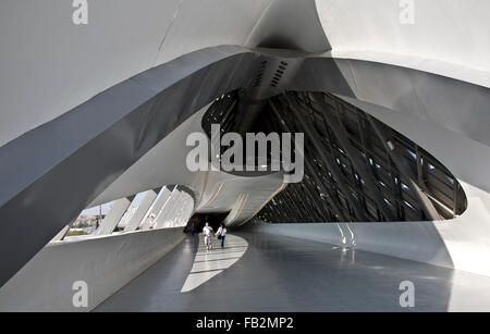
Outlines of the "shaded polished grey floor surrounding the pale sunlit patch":
{"label": "shaded polished grey floor surrounding the pale sunlit patch", "polygon": [[[198,250],[188,237],[95,311],[445,311],[454,271],[359,250],[258,233],[229,269],[181,293]],[[219,251],[219,250],[213,250]],[[400,307],[402,281],[415,308]]]}

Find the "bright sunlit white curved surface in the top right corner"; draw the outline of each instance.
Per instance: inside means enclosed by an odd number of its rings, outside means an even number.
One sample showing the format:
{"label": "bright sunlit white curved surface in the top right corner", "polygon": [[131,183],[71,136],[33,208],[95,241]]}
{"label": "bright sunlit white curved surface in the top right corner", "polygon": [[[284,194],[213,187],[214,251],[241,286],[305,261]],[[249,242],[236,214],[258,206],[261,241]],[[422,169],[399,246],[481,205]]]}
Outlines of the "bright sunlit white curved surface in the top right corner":
{"label": "bright sunlit white curved surface in the top right corner", "polygon": [[332,55],[391,63],[490,87],[490,2],[316,0]]}

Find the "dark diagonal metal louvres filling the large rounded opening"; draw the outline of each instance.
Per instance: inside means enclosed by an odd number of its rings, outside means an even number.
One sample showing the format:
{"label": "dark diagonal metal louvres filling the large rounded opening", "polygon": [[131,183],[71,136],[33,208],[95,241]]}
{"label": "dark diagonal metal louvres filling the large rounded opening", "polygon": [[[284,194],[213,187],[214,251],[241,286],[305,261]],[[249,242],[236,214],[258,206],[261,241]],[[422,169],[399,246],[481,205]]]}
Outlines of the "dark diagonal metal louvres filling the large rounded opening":
{"label": "dark diagonal metal louvres filling the large rounded opening", "polygon": [[[222,133],[243,120],[241,92],[224,95],[204,117]],[[245,115],[246,116],[246,115]],[[256,219],[269,223],[395,222],[452,219],[466,196],[452,173],[409,138],[330,94],[272,97],[248,132],[305,134],[305,177]],[[243,133],[243,131],[242,131]]]}

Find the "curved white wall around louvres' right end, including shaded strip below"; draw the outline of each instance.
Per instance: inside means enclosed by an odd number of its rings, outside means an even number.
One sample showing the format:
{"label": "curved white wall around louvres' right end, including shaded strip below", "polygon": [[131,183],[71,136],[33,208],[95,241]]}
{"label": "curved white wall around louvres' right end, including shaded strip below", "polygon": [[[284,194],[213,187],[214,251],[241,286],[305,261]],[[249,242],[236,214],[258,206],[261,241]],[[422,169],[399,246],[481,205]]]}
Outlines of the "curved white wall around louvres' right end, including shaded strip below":
{"label": "curved white wall around louvres' right end, including shaded strip below", "polygon": [[437,222],[278,224],[259,230],[490,275],[490,147],[427,119],[346,100],[429,149],[462,184],[466,211]]}

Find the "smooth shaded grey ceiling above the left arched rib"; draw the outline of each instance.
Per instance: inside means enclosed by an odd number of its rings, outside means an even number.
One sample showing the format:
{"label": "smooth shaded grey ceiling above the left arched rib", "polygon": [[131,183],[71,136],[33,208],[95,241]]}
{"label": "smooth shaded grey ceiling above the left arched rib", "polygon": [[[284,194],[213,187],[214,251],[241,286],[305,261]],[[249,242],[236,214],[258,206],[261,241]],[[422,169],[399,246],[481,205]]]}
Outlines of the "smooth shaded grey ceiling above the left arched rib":
{"label": "smooth shaded grey ceiling above the left arched rib", "polygon": [[206,47],[244,45],[271,0],[71,1],[0,4],[0,147],[105,89]]}

